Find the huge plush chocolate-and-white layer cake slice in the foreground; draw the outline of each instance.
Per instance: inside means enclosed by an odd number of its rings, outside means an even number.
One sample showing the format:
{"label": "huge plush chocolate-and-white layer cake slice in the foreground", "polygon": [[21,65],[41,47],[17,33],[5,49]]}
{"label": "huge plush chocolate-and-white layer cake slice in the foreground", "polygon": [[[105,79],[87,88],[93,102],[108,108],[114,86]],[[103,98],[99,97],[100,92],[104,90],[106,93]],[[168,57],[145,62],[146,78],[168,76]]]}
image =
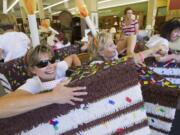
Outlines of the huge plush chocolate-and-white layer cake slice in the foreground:
{"label": "huge plush chocolate-and-white layer cake slice in the foreground", "polygon": [[150,134],[141,85],[131,60],[81,67],[69,86],[87,86],[88,95],[82,103],[53,104],[1,119],[0,134]]}

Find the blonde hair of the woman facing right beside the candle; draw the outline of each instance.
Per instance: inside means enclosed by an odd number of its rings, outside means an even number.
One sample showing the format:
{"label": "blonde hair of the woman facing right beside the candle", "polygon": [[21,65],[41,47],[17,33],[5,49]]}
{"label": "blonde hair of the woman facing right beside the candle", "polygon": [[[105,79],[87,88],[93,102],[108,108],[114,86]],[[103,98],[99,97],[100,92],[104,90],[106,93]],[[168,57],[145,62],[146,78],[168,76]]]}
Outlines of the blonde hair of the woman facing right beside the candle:
{"label": "blonde hair of the woman facing right beside the candle", "polygon": [[107,32],[101,32],[94,38],[89,45],[89,53],[91,60],[99,56],[99,52],[107,48],[108,42],[112,40],[112,34]]}

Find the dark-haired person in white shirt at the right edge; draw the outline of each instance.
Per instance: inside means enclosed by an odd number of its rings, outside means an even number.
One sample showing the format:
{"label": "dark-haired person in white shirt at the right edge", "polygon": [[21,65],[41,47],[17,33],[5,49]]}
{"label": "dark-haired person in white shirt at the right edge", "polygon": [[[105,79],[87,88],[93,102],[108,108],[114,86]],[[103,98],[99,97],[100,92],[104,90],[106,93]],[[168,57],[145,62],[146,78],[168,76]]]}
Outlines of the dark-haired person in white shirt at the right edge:
{"label": "dark-haired person in white shirt at the right edge", "polygon": [[177,54],[168,54],[169,42],[175,42],[180,37],[180,20],[171,19],[166,21],[160,30],[160,34],[156,34],[150,38],[150,40],[145,44],[147,48],[152,48],[154,46],[163,45],[166,50],[160,51],[156,54],[155,58],[157,61],[166,62],[171,59],[180,62],[180,56]]}

